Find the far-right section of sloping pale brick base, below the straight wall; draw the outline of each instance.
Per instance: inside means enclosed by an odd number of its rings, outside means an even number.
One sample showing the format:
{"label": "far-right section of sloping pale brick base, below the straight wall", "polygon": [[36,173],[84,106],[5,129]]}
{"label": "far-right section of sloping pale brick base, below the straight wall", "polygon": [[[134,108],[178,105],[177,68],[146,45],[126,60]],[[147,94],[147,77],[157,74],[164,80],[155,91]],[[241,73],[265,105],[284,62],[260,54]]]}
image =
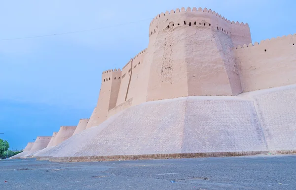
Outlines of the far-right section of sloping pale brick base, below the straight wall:
{"label": "far-right section of sloping pale brick base, below the straight wall", "polygon": [[270,151],[296,150],[296,84],[247,93]]}

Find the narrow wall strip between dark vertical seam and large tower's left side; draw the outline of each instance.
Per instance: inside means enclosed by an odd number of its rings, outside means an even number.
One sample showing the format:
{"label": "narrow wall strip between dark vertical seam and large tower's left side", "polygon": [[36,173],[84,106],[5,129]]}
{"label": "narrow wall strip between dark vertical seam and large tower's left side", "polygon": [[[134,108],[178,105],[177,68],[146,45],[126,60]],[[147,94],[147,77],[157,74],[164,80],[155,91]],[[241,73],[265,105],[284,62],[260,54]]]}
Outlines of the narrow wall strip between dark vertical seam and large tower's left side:
{"label": "narrow wall strip between dark vertical seam and large tower's left side", "polygon": [[[139,76],[142,75],[143,60],[146,55],[146,50],[143,50],[133,58],[131,81],[128,87],[128,93],[126,100],[139,96],[140,92],[137,87],[141,85],[142,81],[139,81]],[[142,72],[141,72],[142,71]]]}

